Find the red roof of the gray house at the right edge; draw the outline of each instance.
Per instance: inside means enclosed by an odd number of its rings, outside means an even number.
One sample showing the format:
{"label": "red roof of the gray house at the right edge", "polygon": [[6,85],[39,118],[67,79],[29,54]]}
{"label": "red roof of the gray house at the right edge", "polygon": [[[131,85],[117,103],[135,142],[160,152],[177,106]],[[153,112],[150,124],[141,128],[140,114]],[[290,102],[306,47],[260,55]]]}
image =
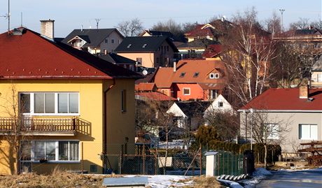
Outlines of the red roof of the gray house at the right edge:
{"label": "red roof of the gray house at the right edge", "polygon": [[322,89],[309,89],[309,98],[300,99],[300,89],[268,89],[240,110],[322,110]]}

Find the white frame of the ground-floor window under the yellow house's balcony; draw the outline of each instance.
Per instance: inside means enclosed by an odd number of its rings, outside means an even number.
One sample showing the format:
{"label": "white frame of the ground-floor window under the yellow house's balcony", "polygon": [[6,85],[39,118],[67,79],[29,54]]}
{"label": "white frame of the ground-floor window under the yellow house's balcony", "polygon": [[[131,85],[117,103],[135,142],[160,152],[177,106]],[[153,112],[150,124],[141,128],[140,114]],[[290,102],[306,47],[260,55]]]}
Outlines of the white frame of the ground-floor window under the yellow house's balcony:
{"label": "white frame of the ground-floor window under the yellow house's balcony", "polygon": [[[80,163],[80,140],[31,140],[31,162],[34,163],[39,163],[40,160],[35,160],[35,150],[36,150],[36,145],[35,142],[40,141],[40,142],[55,142],[55,160],[48,160],[46,163]],[[78,142],[78,160],[59,160],[59,142]],[[69,154],[69,151],[68,151]],[[30,162],[27,160],[23,160],[22,162]]]}

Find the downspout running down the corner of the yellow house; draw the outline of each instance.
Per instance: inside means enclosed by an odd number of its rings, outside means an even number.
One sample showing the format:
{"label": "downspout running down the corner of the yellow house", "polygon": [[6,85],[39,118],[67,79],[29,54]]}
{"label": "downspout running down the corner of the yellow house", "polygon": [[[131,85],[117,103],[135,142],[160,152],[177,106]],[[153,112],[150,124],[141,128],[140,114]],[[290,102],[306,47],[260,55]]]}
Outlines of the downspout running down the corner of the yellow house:
{"label": "downspout running down the corner of the yellow house", "polygon": [[109,158],[107,157],[107,133],[106,133],[106,131],[107,131],[107,105],[106,105],[107,99],[106,99],[106,94],[107,94],[107,92],[109,92],[109,90],[111,90],[114,87],[114,85],[116,85],[115,78],[113,78],[112,85],[110,85],[109,88],[107,88],[106,91],[104,91],[103,173],[105,173],[106,172],[106,169],[107,169],[106,168],[106,160],[109,163],[109,167],[112,168],[111,163],[109,161]]}

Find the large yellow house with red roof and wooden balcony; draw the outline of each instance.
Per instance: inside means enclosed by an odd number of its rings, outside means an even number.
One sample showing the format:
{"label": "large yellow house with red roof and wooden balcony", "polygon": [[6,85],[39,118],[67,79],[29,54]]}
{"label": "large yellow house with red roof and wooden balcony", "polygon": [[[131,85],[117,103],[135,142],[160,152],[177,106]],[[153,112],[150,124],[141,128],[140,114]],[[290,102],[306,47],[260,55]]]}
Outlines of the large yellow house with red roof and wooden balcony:
{"label": "large yellow house with red roof and wooden balcony", "polygon": [[23,27],[0,43],[0,173],[104,173],[134,153],[140,75]]}

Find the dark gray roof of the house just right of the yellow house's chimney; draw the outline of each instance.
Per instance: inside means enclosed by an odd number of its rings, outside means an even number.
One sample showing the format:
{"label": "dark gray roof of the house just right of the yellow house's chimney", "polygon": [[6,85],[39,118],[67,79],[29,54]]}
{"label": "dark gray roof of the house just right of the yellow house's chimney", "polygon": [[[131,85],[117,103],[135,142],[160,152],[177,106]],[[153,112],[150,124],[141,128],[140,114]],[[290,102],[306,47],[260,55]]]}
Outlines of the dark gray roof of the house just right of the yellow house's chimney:
{"label": "dark gray roof of the house just right of the yellow house's chimney", "polygon": [[[62,40],[62,43],[69,44],[68,41],[70,41],[75,36],[79,36],[87,43],[84,45],[84,47],[96,47],[99,46],[106,37],[108,37],[113,31],[116,31],[118,34],[118,29],[112,28],[112,29],[73,29],[71,33]],[[120,34],[120,36],[122,36]]]}

